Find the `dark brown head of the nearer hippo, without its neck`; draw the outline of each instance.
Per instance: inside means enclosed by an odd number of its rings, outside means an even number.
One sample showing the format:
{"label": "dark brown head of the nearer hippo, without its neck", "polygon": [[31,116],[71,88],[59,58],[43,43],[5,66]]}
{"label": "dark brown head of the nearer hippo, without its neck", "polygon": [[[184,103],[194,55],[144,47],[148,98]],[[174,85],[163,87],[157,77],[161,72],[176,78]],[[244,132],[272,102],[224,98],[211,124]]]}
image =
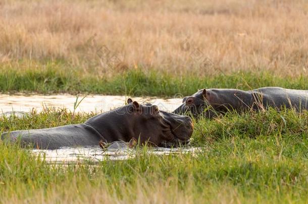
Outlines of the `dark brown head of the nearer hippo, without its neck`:
{"label": "dark brown head of the nearer hippo, without its neck", "polygon": [[177,147],[189,142],[193,131],[190,117],[162,111],[150,103],[142,105],[131,99],[128,99],[127,106],[135,138],[141,144],[147,142],[159,147]]}

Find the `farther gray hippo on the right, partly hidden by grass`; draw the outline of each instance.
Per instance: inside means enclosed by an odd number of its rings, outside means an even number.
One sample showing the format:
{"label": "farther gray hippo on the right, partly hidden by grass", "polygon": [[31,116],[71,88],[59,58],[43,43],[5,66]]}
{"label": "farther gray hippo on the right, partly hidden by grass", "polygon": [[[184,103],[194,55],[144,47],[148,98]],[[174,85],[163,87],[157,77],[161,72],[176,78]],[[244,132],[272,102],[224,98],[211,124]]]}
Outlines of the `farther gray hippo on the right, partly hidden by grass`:
{"label": "farther gray hippo on the right, partly hidden by grass", "polygon": [[183,104],[173,113],[183,114],[189,111],[194,117],[204,114],[212,118],[228,110],[260,110],[267,107],[294,108],[307,110],[308,91],[263,87],[250,91],[238,89],[201,89],[191,96],[183,98]]}

